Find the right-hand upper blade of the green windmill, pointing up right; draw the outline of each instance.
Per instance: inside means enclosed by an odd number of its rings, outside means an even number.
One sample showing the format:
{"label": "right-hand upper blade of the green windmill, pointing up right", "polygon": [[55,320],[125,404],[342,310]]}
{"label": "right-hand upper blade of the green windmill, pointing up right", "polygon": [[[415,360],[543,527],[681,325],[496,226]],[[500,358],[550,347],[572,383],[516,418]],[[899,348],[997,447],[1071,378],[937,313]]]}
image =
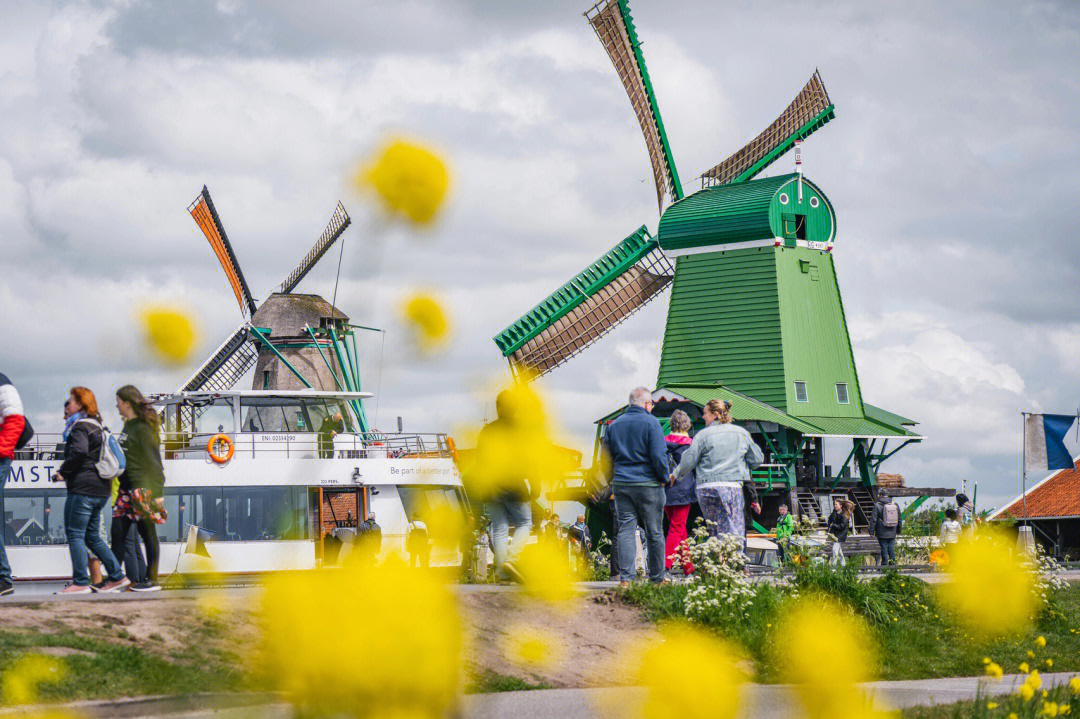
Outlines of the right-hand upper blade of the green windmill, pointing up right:
{"label": "right-hand upper blade of the green windmill, pointing up right", "polygon": [[805,139],[834,117],[836,113],[825,91],[825,83],[821,81],[818,70],[814,70],[810,82],[771,125],[730,158],[702,173],[701,186],[713,187],[752,179],[787,152],[795,140]]}

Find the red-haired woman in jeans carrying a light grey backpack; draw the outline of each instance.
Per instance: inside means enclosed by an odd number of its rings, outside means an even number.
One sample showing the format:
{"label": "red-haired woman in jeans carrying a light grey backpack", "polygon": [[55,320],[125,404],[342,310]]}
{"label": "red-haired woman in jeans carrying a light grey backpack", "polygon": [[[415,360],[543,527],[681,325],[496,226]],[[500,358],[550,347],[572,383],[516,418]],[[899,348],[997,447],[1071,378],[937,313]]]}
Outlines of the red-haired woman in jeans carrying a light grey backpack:
{"label": "red-haired woman in jeans carrying a light grey backpack", "polygon": [[[103,479],[97,465],[105,447],[105,426],[97,412],[94,393],[84,386],[73,388],[64,405],[68,416],[64,425],[64,463],[53,475],[53,481],[67,484],[64,503],[64,529],[71,553],[71,584],[62,594],[90,594],[91,592],[118,592],[131,581],[102,539],[102,511],[109,503],[111,489]],[[109,579],[91,584],[87,550],[105,567]]]}

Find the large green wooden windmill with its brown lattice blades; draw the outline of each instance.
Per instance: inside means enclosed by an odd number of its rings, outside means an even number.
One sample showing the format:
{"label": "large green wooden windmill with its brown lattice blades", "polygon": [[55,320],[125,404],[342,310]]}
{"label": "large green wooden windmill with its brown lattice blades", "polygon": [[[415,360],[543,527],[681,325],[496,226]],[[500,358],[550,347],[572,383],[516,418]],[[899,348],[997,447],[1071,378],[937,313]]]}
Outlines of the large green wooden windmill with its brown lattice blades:
{"label": "large green wooden windmill with its brown lattice blades", "polygon": [[[755,479],[767,515],[771,498],[771,507],[787,501],[820,523],[829,497],[845,496],[859,507],[856,526],[865,525],[881,462],[922,437],[914,420],[863,402],[832,256],[836,213],[798,169],[801,140],[834,118],[820,74],[686,195],[626,1],[604,0],[585,17],[645,135],[659,228],[656,235],[635,230],[499,333],[496,344],[515,375],[539,377],[671,285],[654,412],[681,408],[700,418],[708,399],[728,399],[765,450]],[[759,178],[793,148],[797,172]],[[597,421],[597,440],[621,411]],[[836,467],[825,464],[826,438],[850,443]]]}

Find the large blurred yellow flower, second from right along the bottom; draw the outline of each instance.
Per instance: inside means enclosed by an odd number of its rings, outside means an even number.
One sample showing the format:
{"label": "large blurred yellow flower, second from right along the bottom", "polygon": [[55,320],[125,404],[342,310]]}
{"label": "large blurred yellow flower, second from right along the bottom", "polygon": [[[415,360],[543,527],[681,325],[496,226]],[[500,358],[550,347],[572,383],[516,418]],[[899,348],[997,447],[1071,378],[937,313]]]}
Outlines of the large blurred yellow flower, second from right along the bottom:
{"label": "large blurred yellow flower, second from right along the bottom", "polygon": [[869,681],[875,659],[866,627],[824,600],[807,600],[784,618],[783,675],[795,684],[810,719],[877,716],[856,687]]}

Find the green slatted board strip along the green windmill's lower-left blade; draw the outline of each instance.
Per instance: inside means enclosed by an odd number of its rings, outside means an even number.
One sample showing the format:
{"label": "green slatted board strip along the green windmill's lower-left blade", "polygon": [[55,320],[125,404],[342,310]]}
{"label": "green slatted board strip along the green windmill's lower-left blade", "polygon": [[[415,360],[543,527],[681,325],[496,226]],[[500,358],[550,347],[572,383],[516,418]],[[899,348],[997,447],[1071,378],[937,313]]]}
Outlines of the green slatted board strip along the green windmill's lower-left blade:
{"label": "green slatted board strip along the green windmill's lower-left blade", "polygon": [[516,352],[523,344],[603,289],[656,248],[657,241],[643,225],[519,320],[496,335],[495,343],[502,356],[507,357]]}

